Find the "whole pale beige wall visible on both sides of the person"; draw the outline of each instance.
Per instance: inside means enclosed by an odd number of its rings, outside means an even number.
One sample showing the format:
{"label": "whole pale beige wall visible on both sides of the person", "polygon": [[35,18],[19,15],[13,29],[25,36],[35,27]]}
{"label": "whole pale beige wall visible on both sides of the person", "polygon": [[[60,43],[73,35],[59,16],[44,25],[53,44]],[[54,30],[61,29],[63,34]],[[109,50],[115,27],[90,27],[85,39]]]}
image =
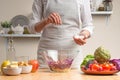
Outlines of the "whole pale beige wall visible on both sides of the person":
{"label": "whole pale beige wall visible on both sides of the person", "polygon": [[[0,21],[10,20],[15,15],[29,16],[33,0],[0,0]],[[111,52],[112,58],[120,58],[120,0],[113,0],[114,10],[106,25],[106,16],[93,16],[95,31],[86,45],[83,54],[94,53],[103,45]],[[16,54],[36,58],[39,38],[14,38]],[[5,38],[0,37],[0,63],[5,59]]]}

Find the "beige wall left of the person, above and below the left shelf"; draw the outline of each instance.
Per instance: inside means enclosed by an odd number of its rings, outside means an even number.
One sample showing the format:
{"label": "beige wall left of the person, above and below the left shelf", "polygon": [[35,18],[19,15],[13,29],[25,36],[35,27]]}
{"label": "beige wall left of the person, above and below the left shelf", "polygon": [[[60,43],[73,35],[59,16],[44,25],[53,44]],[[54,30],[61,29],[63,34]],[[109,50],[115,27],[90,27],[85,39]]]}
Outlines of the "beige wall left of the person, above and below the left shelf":
{"label": "beige wall left of the person, above and below the left shelf", "polygon": [[[29,16],[33,0],[0,0],[0,22],[16,15]],[[39,38],[14,38],[16,55],[36,58]],[[6,38],[0,37],[0,63],[6,58]]]}

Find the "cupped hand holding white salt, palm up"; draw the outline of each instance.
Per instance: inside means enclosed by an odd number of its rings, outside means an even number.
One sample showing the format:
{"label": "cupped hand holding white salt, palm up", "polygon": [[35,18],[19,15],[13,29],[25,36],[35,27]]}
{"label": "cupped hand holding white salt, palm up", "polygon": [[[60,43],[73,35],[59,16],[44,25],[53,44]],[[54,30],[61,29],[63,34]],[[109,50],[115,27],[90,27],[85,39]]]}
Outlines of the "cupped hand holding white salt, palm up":
{"label": "cupped hand holding white salt, palm up", "polygon": [[75,43],[78,44],[78,45],[86,44],[86,38],[83,35],[75,35],[73,37],[73,39],[74,39]]}

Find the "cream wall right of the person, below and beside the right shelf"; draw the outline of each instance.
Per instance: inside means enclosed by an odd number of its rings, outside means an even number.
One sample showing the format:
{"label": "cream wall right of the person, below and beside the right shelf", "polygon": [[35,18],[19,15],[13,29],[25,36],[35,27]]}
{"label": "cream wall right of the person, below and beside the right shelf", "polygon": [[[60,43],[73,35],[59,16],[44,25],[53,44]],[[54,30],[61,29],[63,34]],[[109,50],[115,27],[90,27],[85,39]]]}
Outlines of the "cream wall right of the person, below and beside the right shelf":
{"label": "cream wall right of the person, below and beside the right shelf", "polygon": [[93,37],[88,40],[87,45],[83,46],[84,54],[93,53],[94,50],[103,45],[107,48],[113,58],[120,58],[120,0],[113,0],[113,14],[106,25],[105,16],[93,16],[95,32]]}

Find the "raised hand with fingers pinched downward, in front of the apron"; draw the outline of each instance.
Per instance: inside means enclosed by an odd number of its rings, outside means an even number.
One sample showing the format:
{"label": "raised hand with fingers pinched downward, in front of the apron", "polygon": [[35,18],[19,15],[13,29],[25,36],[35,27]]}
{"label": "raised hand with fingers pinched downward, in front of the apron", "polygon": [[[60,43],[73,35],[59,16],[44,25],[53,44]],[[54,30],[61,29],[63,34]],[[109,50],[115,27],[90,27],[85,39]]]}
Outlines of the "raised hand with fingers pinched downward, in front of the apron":
{"label": "raised hand with fingers pinched downward, in front of the apron", "polygon": [[62,24],[62,20],[61,20],[61,17],[58,13],[51,13],[48,18],[47,18],[47,22],[48,23],[53,23],[53,24],[56,24],[56,25],[60,25]]}

